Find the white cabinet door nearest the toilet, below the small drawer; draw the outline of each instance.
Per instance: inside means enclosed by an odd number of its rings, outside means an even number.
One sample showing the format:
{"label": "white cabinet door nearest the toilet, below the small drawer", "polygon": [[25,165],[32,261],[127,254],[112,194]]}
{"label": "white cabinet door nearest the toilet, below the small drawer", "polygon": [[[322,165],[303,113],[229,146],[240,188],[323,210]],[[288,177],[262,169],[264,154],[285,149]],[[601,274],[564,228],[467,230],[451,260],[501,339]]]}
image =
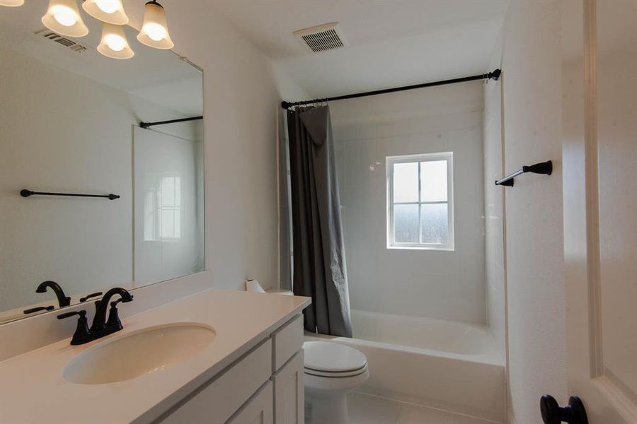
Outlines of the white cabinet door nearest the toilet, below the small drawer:
{"label": "white cabinet door nearest the toilet, below the small drawer", "polygon": [[272,375],[276,424],[304,423],[303,370],[303,350],[300,350]]}

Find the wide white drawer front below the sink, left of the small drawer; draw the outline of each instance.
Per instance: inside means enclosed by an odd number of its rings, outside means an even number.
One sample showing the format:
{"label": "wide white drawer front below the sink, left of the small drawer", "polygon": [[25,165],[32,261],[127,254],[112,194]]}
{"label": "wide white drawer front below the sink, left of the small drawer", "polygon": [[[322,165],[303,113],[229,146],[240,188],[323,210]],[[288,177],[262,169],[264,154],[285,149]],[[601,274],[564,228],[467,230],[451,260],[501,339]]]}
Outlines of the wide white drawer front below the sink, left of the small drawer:
{"label": "wide white drawer front below the sink, left of the small drawer", "polygon": [[251,353],[210,384],[197,389],[183,405],[171,413],[163,423],[199,424],[225,423],[252,394],[268,381],[272,366],[272,342],[261,343]]}

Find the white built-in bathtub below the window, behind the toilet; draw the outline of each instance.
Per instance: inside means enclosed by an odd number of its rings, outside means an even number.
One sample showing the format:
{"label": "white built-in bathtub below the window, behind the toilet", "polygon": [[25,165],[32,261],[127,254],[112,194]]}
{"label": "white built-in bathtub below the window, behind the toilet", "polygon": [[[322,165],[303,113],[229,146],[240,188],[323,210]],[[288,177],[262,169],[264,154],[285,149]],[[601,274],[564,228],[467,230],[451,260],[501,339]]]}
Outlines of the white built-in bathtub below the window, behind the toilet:
{"label": "white built-in bathtub below the window, behind the toilet", "polygon": [[505,421],[504,360],[486,326],[352,310],[354,338],[306,334],[367,356],[362,393]]}

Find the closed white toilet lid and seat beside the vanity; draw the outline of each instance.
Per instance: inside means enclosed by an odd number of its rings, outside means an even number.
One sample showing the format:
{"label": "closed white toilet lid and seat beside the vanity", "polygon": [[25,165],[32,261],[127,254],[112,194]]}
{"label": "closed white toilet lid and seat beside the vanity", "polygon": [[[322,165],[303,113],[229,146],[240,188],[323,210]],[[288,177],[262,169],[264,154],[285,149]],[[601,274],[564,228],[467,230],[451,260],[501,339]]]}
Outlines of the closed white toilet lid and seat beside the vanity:
{"label": "closed white toilet lid and seat beside the vanity", "polygon": [[340,343],[306,341],[303,350],[306,370],[348,372],[367,366],[367,358],[362,352]]}

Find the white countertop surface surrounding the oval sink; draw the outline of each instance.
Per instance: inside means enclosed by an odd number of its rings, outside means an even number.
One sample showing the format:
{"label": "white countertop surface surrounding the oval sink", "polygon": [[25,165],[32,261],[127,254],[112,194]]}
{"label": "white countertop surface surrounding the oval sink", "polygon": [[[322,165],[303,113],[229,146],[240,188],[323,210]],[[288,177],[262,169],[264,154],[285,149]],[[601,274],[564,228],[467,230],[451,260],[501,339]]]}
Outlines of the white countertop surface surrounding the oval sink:
{"label": "white countertop surface surrounding the oval sink", "polygon": [[[123,319],[122,331],[91,343],[71,346],[67,338],[5,360],[0,362],[0,423],[149,422],[270,336],[309,302],[297,296],[210,289]],[[92,317],[93,310],[89,314]],[[67,363],[97,343],[175,322],[207,324],[217,336],[193,357],[135,379],[73,384],[62,378]]]}

